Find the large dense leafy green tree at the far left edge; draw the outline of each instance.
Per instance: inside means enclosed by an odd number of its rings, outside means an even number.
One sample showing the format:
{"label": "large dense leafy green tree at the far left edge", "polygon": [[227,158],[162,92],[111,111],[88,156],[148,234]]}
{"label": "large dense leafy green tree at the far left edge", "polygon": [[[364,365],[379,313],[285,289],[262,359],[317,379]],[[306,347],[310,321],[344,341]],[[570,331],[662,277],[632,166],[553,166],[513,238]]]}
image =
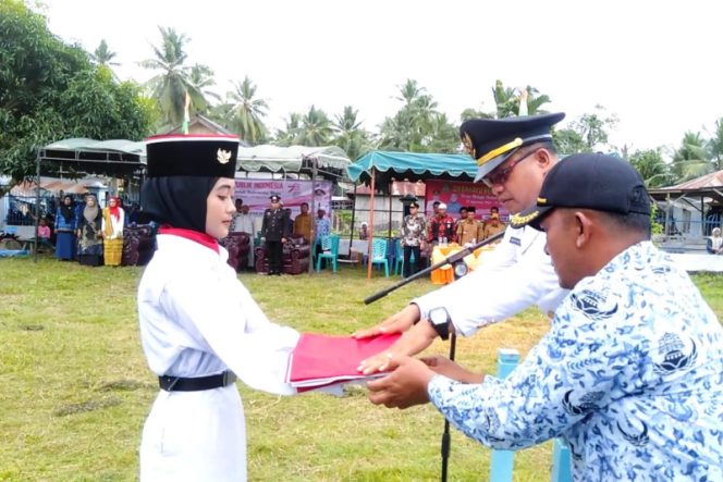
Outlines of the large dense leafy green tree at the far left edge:
{"label": "large dense leafy green tree at the far left edge", "polygon": [[118,84],[23,2],[0,0],[0,172],[35,174],[36,148],[66,137],[142,139],[151,122],[140,87]]}

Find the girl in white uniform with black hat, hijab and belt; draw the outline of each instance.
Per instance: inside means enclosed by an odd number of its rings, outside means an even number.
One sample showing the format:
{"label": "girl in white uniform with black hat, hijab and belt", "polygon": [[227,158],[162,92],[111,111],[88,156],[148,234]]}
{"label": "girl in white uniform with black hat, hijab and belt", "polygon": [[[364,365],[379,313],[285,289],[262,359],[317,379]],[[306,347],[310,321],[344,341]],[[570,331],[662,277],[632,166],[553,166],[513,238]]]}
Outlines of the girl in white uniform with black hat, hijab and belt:
{"label": "girl in white uniform with black hat, hijab and belt", "polygon": [[140,338],[161,391],[143,430],[142,481],[245,481],[237,375],[293,394],[284,382],[298,333],[269,322],[217,239],[235,211],[233,136],[147,140],[142,205],[161,224],[138,286]]}

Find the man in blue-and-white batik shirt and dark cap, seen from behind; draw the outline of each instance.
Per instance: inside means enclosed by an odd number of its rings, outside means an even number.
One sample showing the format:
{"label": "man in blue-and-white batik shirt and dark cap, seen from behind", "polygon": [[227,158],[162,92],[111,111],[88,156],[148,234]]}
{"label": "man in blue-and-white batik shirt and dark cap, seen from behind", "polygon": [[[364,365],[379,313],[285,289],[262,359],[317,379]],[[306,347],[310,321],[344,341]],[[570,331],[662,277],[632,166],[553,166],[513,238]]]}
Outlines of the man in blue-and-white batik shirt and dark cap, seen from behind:
{"label": "man in blue-and-white batik shirt and dark cap, seen from behind", "polygon": [[394,372],[369,382],[371,401],[429,400],[494,448],[561,436],[578,481],[723,480],[723,327],[650,243],[638,173],[618,158],[571,156],[511,222],[547,233],[560,285],[572,288],[550,332],[505,380],[394,357]]}

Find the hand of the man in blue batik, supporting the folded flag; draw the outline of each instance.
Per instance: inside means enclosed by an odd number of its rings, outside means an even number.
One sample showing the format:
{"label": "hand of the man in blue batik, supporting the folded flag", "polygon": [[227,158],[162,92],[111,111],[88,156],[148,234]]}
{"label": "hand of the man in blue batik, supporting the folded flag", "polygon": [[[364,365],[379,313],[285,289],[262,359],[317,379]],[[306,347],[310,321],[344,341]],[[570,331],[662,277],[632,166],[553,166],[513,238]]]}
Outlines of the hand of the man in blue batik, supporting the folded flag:
{"label": "hand of the man in blue batik, supporting the folded flag", "polygon": [[367,383],[369,401],[389,408],[409,408],[429,401],[427,385],[434,376],[429,367],[409,357],[392,357],[392,373]]}

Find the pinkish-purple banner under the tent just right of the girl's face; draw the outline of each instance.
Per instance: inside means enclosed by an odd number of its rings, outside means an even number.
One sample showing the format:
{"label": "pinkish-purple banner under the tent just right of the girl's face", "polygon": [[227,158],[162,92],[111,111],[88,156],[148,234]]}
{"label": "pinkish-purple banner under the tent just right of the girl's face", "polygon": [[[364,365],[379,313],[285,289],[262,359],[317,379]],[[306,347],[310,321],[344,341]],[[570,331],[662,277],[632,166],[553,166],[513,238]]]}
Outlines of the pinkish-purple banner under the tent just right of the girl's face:
{"label": "pinkish-purple banner under the tent just right of the girl's face", "polygon": [[[302,202],[308,202],[309,212],[311,210],[311,181],[298,180],[236,178],[234,197],[243,199],[252,214],[264,214],[264,210],[271,207],[269,197],[275,194],[281,196],[284,208],[291,208],[292,215],[296,215],[301,212]],[[327,217],[331,213],[331,181],[316,182],[316,209],[322,208],[327,211]]]}

